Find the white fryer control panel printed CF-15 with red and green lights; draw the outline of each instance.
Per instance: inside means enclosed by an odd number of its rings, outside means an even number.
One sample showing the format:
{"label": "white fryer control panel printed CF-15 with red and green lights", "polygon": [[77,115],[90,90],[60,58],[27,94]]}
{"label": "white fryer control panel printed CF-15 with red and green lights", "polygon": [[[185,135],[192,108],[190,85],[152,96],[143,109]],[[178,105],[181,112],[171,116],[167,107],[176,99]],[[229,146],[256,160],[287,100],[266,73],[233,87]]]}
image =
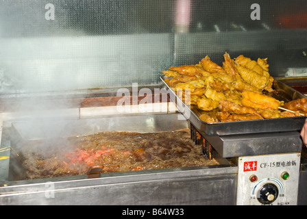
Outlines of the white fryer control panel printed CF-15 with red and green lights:
{"label": "white fryer control panel printed CF-15 with red and green lights", "polygon": [[300,155],[238,157],[237,205],[297,205]]}

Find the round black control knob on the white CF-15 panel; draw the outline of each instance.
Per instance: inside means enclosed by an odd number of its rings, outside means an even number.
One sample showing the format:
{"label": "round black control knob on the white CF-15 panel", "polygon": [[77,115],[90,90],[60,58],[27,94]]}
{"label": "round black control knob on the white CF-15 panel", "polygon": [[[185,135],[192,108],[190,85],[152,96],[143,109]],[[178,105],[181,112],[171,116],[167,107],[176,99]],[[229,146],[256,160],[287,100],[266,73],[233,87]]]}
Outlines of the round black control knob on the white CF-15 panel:
{"label": "round black control knob on the white CF-15 panel", "polygon": [[268,205],[273,203],[278,197],[278,187],[273,183],[262,185],[258,190],[258,201],[262,204]]}

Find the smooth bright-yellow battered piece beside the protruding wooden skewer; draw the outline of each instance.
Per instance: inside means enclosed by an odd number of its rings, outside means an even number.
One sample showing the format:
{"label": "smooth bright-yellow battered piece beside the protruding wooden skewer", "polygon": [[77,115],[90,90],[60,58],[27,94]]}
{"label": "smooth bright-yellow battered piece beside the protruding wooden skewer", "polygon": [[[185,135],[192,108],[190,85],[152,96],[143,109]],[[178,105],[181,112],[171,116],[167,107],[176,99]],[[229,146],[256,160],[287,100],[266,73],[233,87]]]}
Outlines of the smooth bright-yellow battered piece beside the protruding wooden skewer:
{"label": "smooth bright-yellow battered piece beside the protruding wooden skewer", "polygon": [[263,110],[278,110],[278,107],[282,105],[282,102],[265,94],[244,91],[242,92],[242,96],[242,105],[245,105],[247,107],[260,108]]}

